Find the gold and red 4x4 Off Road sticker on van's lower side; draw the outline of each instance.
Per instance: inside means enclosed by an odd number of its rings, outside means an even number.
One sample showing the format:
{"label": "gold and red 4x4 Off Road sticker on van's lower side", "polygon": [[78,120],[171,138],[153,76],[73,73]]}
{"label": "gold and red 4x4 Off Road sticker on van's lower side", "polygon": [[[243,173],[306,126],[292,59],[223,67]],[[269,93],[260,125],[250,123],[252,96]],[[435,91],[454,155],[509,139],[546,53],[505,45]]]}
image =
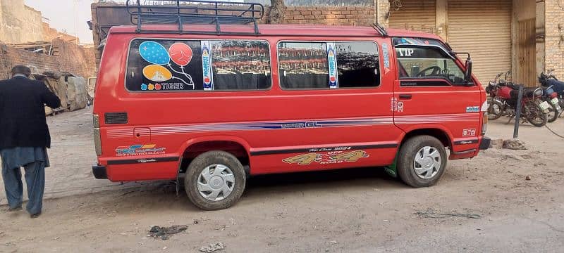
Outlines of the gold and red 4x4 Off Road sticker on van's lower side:
{"label": "gold and red 4x4 Off Road sticker on van's lower side", "polygon": [[309,165],[313,162],[319,164],[339,164],[343,162],[357,162],[362,158],[369,157],[364,150],[354,151],[330,151],[325,153],[307,153],[288,157],[283,162],[288,164]]}

